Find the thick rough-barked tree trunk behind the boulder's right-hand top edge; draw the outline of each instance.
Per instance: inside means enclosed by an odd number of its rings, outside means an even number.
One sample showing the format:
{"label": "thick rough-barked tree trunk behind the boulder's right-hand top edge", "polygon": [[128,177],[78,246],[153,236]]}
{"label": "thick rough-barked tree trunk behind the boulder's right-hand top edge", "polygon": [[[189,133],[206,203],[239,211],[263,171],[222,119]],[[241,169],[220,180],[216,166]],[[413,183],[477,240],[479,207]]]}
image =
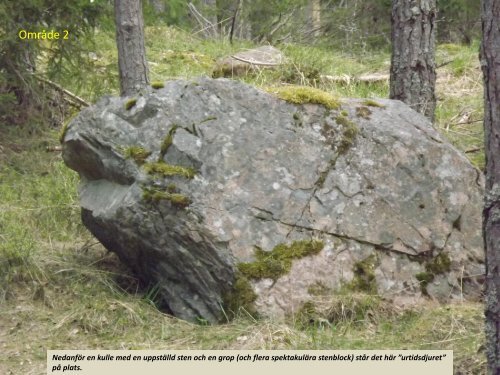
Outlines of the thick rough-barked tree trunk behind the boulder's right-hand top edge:
{"label": "thick rough-barked tree trunk behind the boulder's right-hand top edge", "polygon": [[436,0],[392,0],[391,99],[434,120]]}

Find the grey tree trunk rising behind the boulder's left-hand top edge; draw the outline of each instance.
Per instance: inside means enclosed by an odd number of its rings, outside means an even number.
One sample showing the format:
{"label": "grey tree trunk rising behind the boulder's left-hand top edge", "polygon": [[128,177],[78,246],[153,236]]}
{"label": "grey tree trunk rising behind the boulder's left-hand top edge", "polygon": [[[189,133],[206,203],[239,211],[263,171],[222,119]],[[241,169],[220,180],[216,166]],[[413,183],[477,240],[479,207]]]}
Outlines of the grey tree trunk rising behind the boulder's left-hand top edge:
{"label": "grey tree trunk rising behind the boulder's left-hand top edge", "polygon": [[134,95],[149,84],[141,1],[115,0],[115,22],[120,92]]}

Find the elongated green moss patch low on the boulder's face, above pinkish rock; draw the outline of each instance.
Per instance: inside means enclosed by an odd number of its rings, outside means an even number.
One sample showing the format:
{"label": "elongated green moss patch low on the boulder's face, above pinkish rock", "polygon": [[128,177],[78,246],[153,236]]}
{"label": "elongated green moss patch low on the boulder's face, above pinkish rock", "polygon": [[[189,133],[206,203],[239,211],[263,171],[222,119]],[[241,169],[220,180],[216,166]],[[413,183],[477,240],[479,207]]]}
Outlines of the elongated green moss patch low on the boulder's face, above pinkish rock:
{"label": "elongated green moss patch low on the boulder's face, above pinkish rock", "polygon": [[324,247],[323,241],[302,240],[290,245],[279,244],[271,251],[259,247],[255,250],[255,261],[238,264],[240,272],[249,279],[278,280],[287,274],[294,259],[319,253]]}

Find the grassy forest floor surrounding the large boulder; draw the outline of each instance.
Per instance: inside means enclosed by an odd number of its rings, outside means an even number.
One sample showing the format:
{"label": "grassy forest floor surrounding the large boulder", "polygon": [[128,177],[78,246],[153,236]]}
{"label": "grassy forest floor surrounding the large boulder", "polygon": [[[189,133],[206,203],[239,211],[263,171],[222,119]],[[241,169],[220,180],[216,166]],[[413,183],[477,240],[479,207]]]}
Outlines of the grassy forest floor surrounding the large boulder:
{"label": "grassy forest floor surrounding the large boulder", "polygon": [[[147,33],[152,80],[210,75],[217,58],[248,47],[166,27]],[[339,84],[318,78],[386,74],[387,52],[279,47],[289,58],[286,66],[238,79],[261,87],[315,85],[342,97],[388,96],[386,81]],[[114,35],[99,33],[94,48],[88,66],[60,82],[88,101],[118,88]],[[435,126],[482,168],[477,51],[477,44],[439,47]],[[344,313],[328,323],[310,324],[300,315],[278,322],[242,314],[217,327],[159,312],[151,293],[82,226],[78,177],[59,153],[47,152],[58,144],[58,131],[0,126],[1,374],[45,374],[47,349],[450,349],[455,373],[485,373],[480,303],[429,301],[397,308],[374,296],[340,295],[331,303]]]}

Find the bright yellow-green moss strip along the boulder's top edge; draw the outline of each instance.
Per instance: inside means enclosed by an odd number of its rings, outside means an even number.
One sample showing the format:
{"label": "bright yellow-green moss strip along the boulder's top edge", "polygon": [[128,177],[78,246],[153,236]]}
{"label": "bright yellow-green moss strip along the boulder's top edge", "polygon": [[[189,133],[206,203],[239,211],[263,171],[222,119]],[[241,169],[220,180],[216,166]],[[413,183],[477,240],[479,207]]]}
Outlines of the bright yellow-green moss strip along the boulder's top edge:
{"label": "bright yellow-green moss strip along the boulder's top edge", "polygon": [[339,109],[339,100],[325,91],[307,86],[285,86],[269,88],[267,91],[278,98],[294,104],[321,104],[328,109]]}

